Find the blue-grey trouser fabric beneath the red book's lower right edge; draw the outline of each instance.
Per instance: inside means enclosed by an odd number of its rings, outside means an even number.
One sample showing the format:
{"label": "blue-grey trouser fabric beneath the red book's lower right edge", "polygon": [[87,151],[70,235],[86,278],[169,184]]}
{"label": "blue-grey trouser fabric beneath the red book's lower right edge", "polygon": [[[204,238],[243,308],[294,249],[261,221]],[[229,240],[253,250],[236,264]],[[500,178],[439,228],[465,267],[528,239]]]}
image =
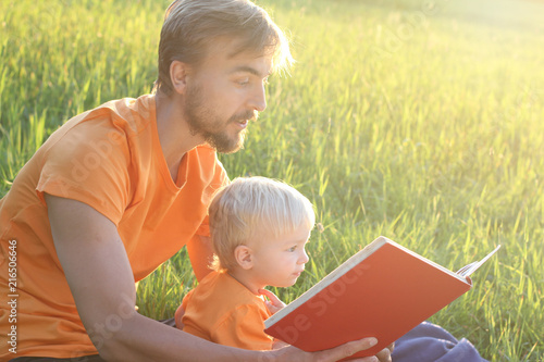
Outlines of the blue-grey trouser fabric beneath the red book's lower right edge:
{"label": "blue-grey trouser fabric beneath the red book's lower right edge", "polygon": [[393,362],[486,362],[470,341],[423,322],[395,342]]}

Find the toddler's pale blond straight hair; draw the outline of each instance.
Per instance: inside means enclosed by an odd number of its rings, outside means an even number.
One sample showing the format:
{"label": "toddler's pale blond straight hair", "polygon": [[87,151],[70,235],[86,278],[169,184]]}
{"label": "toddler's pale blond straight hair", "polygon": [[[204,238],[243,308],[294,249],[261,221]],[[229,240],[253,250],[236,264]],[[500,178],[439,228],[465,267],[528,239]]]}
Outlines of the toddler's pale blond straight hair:
{"label": "toddler's pale blond straight hair", "polygon": [[265,177],[240,177],[222,188],[209,207],[210,233],[215,253],[212,269],[237,265],[234,250],[260,232],[274,237],[301,225],[313,227],[311,202],[289,185]]}

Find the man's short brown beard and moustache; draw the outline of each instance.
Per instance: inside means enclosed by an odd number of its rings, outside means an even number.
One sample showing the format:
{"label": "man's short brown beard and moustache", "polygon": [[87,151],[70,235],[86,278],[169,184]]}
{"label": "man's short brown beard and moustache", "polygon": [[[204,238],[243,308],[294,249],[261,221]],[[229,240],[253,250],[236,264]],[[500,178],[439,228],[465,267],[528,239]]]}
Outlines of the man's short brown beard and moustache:
{"label": "man's short brown beard and moustache", "polygon": [[187,90],[185,100],[185,118],[191,135],[201,135],[207,143],[218,152],[232,153],[244,147],[247,128],[240,129],[237,137],[228,135],[227,128],[233,123],[257,120],[257,111],[246,111],[234,114],[228,120],[222,120],[213,113],[213,109],[206,108],[202,92],[199,87]]}

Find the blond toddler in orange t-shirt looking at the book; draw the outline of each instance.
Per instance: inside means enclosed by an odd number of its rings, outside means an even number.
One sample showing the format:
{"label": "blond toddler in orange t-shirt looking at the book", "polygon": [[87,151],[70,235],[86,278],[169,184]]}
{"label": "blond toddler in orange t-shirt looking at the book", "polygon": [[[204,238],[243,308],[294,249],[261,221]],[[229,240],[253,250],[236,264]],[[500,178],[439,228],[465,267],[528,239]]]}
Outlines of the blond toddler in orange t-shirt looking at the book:
{"label": "blond toddler in orange t-shirt looking at the book", "polygon": [[224,346],[280,347],[263,322],[285,304],[264,287],[292,286],[305,270],[312,204],[284,183],[246,177],[215,195],[209,215],[213,271],[183,299],[176,325]]}

